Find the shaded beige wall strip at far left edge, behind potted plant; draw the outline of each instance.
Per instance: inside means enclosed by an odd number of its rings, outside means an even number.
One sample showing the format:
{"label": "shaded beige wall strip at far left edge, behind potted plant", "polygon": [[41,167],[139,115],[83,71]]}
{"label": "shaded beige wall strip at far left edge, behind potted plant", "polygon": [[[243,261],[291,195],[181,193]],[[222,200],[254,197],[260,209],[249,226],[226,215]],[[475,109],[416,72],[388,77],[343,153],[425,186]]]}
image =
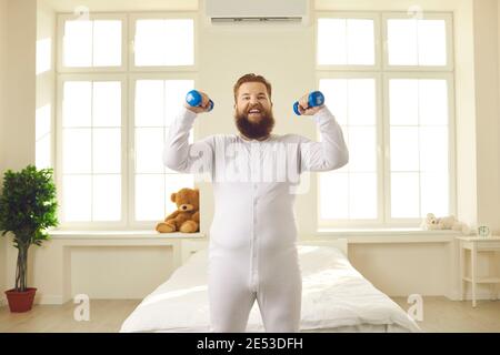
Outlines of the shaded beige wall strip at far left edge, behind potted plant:
{"label": "shaded beige wall strip at far left edge, behind potted plant", "polygon": [[[37,2],[31,0],[3,0],[2,23],[7,28],[8,37],[2,49],[7,54],[1,72],[4,94],[4,114],[1,121],[1,151],[0,172],[7,169],[19,170],[27,164],[34,163],[34,108],[36,108],[36,77],[34,49]],[[7,11],[4,11],[7,10]],[[8,13],[8,16],[7,16]],[[6,38],[3,38],[6,39]],[[6,59],[6,58],[4,58]],[[3,287],[13,286],[16,264],[11,263],[11,255],[16,250],[10,239],[2,240],[6,244],[6,263],[3,272]],[[32,257],[32,256],[31,256]],[[29,270],[28,274],[31,274]],[[3,293],[2,295],[3,296]]]}

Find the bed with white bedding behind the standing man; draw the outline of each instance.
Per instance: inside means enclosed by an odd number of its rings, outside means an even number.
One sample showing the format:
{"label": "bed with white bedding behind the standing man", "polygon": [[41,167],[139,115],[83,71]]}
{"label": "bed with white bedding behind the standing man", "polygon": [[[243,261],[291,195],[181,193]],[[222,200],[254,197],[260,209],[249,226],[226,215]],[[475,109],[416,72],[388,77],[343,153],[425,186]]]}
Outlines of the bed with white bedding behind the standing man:
{"label": "bed with white bedding behind the standing man", "polygon": [[[349,262],[347,241],[298,244],[300,332],[420,332],[417,323]],[[210,332],[207,242],[182,244],[183,264],[123,322],[121,333]],[[257,302],[247,332],[264,332]]]}

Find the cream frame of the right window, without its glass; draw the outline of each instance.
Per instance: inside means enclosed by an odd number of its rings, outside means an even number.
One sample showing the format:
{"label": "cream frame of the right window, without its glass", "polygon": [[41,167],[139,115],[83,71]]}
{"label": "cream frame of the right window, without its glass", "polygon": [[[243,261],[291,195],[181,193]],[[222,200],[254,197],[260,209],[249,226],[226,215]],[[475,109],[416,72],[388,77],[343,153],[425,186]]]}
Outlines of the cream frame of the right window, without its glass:
{"label": "cream frame of the right window, without its glass", "polygon": [[[352,12],[352,11],[318,11],[314,17],[316,51],[318,52],[318,19],[329,18],[351,19],[351,18],[371,18],[374,22],[376,43],[376,64],[370,68],[367,65],[319,65],[316,55],[316,82],[319,88],[322,79],[352,79],[352,78],[376,78],[376,104],[377,104],[377,128],[378,152],[378,219],[376,220],[324,220],[321,219],[321,192],[320,176],[316,179],[317,196],[317,229],[370,229],[370,227],[416,227],[420,225],[421,219],[392,219],[391,217],[391,191],[390,191],[390,116],[389,116],[389,80],[393,78],[404,79],[444,79],[448,87],[448,108],[449,108],[449,213],[457,214],[457,145],[456,145],[456,90],[454,90],[454,52],[453,52],[453,14],[451,12],[426,12],[422,19],[440,19],[446,21],[447,28],[447,65],[388,65],[389,53],[387,43],[387,20],[388,19],[408,19],[409,13],[398,11],[373,11],[373,12]],[[370,17],[369,17],[370,18]],[[378,32],[377,32],[378,31]],[[379,52],[377,52],[379,49]],[[377,62],[378,60],[378,62]],[[333,113],[334,114],[334,113]],[[317,131],[318,139],[320,138]],[[380,170],[381,169],[381,170]],[[419,194],[420,200],[420,194]],[[431,211],[429,211],[431,212]]]}

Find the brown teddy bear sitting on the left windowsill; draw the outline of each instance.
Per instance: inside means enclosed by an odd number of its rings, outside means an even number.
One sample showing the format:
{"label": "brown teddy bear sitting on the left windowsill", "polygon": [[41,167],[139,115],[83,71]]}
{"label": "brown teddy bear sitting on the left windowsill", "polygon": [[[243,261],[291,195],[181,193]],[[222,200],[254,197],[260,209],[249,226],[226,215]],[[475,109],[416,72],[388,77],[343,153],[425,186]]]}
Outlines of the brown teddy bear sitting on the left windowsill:
{"label": "brown teddy bear sitting on the left windowsill", "polygon": [[157,224],[160,233],[196,233],[200,226],[200,192],[198,189],[181,189],[170,195],[177,204],[177,211]]}

